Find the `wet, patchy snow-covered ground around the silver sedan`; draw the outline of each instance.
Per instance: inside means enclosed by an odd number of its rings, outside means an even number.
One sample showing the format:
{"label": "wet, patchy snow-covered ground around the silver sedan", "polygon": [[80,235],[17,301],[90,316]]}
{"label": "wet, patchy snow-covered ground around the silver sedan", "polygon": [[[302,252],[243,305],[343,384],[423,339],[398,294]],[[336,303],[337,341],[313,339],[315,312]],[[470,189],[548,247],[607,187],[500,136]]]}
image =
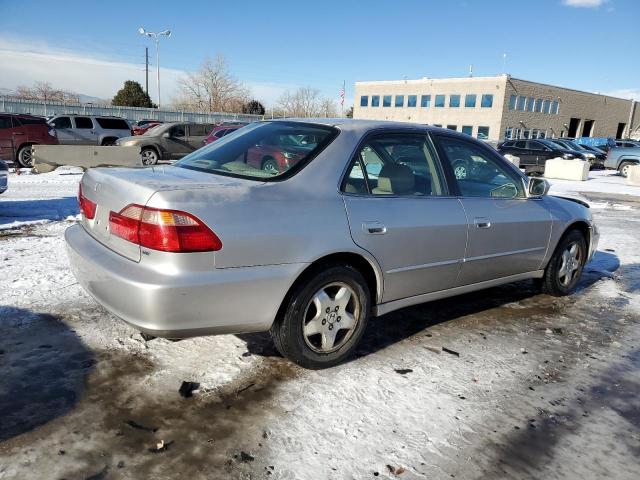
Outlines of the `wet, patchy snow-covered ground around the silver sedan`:
{"label": "wet, patchy snow-covered ground around the silver sedan", "polygon": [[144,342],[73,285],[64,224],[5,235],[10,286],[43,238],[33,269],[57,276],[0,302],[0,479],[636,479],[640,203],[592,200],[575,295],[520,282],[394,312],[320,372],[266,334]]}

